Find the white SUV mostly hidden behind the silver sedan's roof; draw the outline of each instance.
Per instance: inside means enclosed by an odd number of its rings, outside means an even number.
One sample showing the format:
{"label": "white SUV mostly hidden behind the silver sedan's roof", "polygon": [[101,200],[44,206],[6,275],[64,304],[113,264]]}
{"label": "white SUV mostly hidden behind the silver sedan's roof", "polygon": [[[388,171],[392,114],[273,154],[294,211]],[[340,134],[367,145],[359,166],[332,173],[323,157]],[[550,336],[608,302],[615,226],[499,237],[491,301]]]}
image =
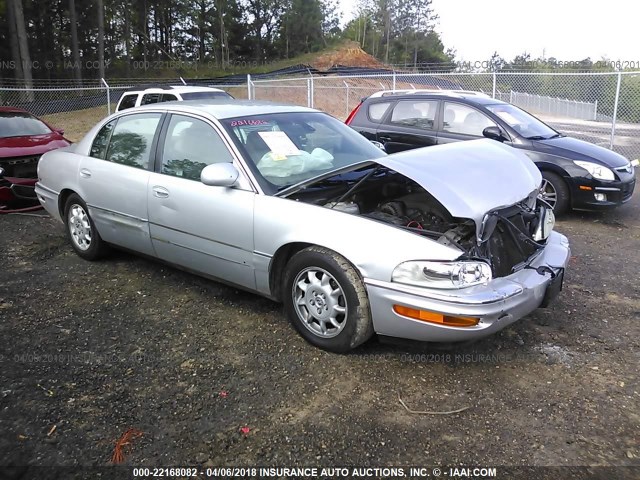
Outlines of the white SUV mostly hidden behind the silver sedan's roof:
{"label": "white SUV mostly hidden behind the silver sedan's roof", "polygon": [[136,87],[127,90],[120,97],[116,112],[127,108],[139,107],[159,102],[173,102],[182,100],[210,100],[210,99],[233,99],[224,90],[212,87],[196,87],[189,85],[158,85],[152,87]]}

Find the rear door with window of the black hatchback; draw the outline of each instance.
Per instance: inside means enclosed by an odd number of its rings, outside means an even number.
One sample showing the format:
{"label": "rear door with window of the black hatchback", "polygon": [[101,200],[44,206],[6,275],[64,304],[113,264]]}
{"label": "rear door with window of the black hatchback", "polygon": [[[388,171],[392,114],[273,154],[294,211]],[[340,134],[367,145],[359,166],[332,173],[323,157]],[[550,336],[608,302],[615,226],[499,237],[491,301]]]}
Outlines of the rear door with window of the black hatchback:
{"label": "rear door with window of the black hatchback", "polygon": [[377,140],[387,153],[438,143],[438,100],[399,100],[378,126]]}

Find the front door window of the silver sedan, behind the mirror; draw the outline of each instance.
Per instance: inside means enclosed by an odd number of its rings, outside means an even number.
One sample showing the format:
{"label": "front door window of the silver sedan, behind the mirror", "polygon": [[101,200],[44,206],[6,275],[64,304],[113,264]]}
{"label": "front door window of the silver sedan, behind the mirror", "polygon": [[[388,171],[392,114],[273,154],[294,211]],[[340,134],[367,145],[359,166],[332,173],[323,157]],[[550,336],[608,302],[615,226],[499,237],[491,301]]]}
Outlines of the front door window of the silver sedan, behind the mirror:
{"label": "front door window of the silver sedan, behind the mirror", "polygon": [[162,173],[200,181],[207,165],[233,161],[211,125],[197,118],[172,115],[162,149]]}

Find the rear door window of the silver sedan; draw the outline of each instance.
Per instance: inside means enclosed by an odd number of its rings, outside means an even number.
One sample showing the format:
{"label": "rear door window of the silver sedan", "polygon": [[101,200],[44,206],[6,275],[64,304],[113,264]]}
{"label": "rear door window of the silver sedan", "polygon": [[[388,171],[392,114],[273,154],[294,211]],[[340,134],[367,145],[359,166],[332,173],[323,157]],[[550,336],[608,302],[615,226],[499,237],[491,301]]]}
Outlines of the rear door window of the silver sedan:
{"label": "rear door window of the silver sedan", "polygon": [[106,160],[147,169],[153,137],[161,113],[138,113],[120,117],[111,134]]}

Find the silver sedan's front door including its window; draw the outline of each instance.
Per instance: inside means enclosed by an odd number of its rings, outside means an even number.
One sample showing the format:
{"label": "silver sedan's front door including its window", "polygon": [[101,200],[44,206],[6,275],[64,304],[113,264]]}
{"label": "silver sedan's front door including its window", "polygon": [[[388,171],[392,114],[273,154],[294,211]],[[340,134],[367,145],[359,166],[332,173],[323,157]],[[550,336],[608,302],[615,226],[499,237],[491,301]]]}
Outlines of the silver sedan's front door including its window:
{"label": "silver sedan's front door including its window", "polygon": [[[216,128],[187,115],[171,115],[147,190],[151,241],[156,255],[190,270],[255,289],[255,192],[211,187],[202,169],[234,162]],[[242,175],[242,173],[241,173]]]}

